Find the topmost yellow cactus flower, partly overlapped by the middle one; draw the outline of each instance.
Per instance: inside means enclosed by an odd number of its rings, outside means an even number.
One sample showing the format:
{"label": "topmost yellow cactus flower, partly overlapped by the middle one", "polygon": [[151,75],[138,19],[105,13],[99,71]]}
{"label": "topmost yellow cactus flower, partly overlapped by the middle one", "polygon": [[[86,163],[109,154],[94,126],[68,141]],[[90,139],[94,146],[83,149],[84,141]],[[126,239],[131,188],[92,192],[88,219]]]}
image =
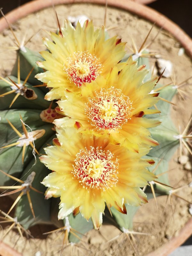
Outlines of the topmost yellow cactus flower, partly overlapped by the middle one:
{"label": "topmost yellow cactus flower, partly overlapped by the middle one", "polygon": [[76,29],[66,20],[62,36],[51,33],[54,41],[44,38],[50,51],[41,52],[45,59],[37,64],[47,70],[36,78],[52,87],[46,100],[60,99],[66,89],[80,92],[84,83],[91,83],[99,74],[106,77],[110,69],[124,57],[125,43],[116,36],[106,40],[105,28],[94,31],[92,21],[85,21]]}

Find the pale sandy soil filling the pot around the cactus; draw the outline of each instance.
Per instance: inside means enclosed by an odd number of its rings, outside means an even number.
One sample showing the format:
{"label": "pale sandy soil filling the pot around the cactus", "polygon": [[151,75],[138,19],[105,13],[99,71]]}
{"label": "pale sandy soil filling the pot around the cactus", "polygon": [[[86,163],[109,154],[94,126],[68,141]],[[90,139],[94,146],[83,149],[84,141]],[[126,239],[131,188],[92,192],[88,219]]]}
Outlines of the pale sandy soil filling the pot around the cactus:
{"label": "pale sandy soil filling the pot around the cactus", "polygon": [[[58,13],[61,24],[68,15],[77,16],[80,14],[86,14],[89,18],[93,19],[95,27],[99,27],[103,24],[104,20],[104,8],[92,5],[92,4],[74,4],[73,6],[57,6],[56,11]],[[134,39],[136,45],[140,47],[145,36],[148,34],[152,24],[135,15],[128,12],[117,10],[114,8],[108,8],[107,15],[107,28],[110,36],[119,35],[122,37],[122,41],[127,41],[127,50],[131,47],[131,36]],[[44,49],[42,44],[42,36],[49,36],[45,30],[50,31],[57,28],[54,12],[51,9],[46,9],[41,12],[29,15],[28,17],[13,24],[13,29],[18,37],[19,41],[22,41],[23,35],[27,32],[26,41],[32,35],[32,39],[27,43],[27,47],[41,51]],[[154,27],[149,37],[150,40],[157,34],[159,28]],[[10,30],[5,30],[3,34],[0,34],[0,47],[4,47],[0,54],[0,74],[1,76],[9,75],[11,68],[15,62],[16,53],[9,51],[9,47],[15,46],[12,39]],[[155,42],[150,46],[150,50],[154,50],[161,54],[162,58],[170,60],[173,64],[173,76],[176,75],[176,83],[189,78],[192,68],[191,60],[185,54],[178,56],[180,44],[172,38],[167,32],[162,31]],[[130,52],[130,51],[129,51]],[[151,59],[153,65],[154,59]],[[163,84],[171,82],[170,78],[163,78],[161,81]],[[192,79],[188,80],[188,84],[192,83]],[[190,87],[183,88],[188,96],[191,96]],[[188,123],[191,116],[192,102],[191,98],[182,99],[178,94],[175,96],[173,102],[175,106],[172,107],[172,116],[174,122],[180,125],[181,131]],[[191,171],[183,170],[183,167],[176,163],[174,159],[177,158],[177,154],[173,157],[169,166],[170,184],[175,187],[181,187],[189,184],[192,180]],[[191,188],[184,187],[178,195],[188,199],[191,199]],[[1,205],[6,205],[7,201],[0,201]],[[166,196],[157,198],[158,209],[154,199],[149,200],[149,203],[142,206],[134,217],[134,231],[148,233],[149,235],[136,235],[134,242],[138,255],[146,255],[169,241],[172,236],[177,235],[181,227],[184,226],[186,221],[190,218],[188,212],[189,205],[184,200],[172,196],[172,207],[170,201],[165,207]],[[6,211],[6,210],[5,210]],[[8,228],[8,227],[7,227]],[[52,230],[49,226],[37,226],[31,229],[34,239],[23,241],[19,238],[19,235],[10,232],[5,238],[4,242],[10,244],[12,247],[22,252],[26,256],[39,256],[39,255],[60,255],[62,236],[54,241],[54,238],[58,234],[49,236],[42,236],[41,234]],[[1,233],[6,232],[6,228]],[[119,236],[120,234],[120,236]],[[113,241],[110,239],[115,238]],[[63,255],[137,255],[128,237],[125,234],[121,234],[120,231],[113,226],[102,226],[97,230],[88,232],[87,236],[83,238],[84,243],[79,245],[70,245],[64,250]],[[84,247],[86,249],[84,249]]]}

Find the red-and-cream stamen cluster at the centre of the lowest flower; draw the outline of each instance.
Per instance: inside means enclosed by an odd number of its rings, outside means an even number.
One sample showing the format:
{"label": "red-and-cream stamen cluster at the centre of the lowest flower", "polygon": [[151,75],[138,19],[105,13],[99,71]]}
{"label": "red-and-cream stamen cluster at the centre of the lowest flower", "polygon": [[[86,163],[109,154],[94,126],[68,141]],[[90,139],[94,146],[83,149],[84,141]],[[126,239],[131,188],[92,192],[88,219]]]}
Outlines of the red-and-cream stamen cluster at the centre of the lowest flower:
{"label": "red-and-cream stamen cluster at the centre of the lowest flower", "polygon": [[81,149],[76,154],[72,173],[86,189],[106,190],[118,181],[118,159],[108,150],[90,147]]}

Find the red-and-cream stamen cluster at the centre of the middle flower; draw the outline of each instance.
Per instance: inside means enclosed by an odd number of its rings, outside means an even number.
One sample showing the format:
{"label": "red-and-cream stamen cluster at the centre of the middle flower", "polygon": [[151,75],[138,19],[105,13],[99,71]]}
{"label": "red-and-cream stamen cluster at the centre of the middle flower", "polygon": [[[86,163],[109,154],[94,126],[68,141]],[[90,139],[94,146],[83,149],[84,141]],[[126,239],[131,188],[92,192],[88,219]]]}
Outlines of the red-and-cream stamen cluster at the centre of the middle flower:
{"label": "red-and-cream stamen cluster at the centre of the middle flower", "polygon": [[101,89],[85,104],[85,114],[91,124],[100,130],[121,129],[127,123],[133,110],[132,101],[121,90],[110,87]]}

